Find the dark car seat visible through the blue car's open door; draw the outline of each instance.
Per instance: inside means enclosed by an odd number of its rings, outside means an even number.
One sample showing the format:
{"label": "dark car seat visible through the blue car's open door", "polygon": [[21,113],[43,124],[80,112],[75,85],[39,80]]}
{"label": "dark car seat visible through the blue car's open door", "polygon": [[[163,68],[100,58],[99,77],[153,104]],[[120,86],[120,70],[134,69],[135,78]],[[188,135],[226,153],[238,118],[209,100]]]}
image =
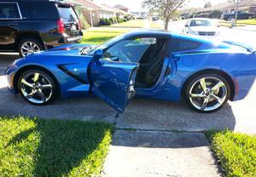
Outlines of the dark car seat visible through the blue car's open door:
{"label": "dark car seat visible through the blue car's open door", "polygon": [[156,39],[139,60],[139,69],[135,86],[136,88],[151,88],[159,80],[165,59],[166,40]]}

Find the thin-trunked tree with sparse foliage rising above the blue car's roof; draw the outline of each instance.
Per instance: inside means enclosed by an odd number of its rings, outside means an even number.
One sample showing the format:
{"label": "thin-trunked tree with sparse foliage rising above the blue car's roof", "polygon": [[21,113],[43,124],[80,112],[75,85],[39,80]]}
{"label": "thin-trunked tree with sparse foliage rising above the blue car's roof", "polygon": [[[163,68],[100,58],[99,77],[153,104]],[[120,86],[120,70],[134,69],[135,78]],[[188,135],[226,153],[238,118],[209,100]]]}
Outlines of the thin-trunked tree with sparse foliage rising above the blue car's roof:
{"label": "thin-trunked tree with sparse foliage rising above the blue car's roof", "polygon": [[169,21],[186,0],[144,0],[143,7],[148,8],[150,13],[158,14],[168,30]]}

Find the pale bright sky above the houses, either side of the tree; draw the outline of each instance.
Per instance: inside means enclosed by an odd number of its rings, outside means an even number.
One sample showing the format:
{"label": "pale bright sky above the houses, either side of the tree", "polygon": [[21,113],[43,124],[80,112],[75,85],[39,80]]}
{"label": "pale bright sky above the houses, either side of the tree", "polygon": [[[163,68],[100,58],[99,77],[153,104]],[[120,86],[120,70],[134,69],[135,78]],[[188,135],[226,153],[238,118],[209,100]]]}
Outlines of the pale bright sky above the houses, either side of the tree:
{"label": "pale bright sky above the houses, either side of the tree", "polygon": [[[138,11],[141,8],[143,0],[94,0],[96,3],[106,3],[110,6],[121,3],[131,9],[131,11]],[[187,6],[189,7],[203,7],[208,0],[188,0]],[[212,4],[223,3],[227,0],[210,0]]]}

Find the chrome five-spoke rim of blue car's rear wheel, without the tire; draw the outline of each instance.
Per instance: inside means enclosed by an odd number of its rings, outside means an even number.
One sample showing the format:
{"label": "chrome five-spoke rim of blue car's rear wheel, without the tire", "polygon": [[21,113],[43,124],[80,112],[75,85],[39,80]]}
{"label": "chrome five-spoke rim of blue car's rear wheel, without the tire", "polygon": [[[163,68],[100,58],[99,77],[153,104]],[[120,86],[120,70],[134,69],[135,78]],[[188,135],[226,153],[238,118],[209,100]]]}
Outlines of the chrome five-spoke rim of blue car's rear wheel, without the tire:
{"label": "chrome five-spoke rim of blue car's rear wheel, without the tire", "polygon": [[217,77],[202,77],[189,90],[192,106],[201,111],[213,111],[224,104],[227,87]]}

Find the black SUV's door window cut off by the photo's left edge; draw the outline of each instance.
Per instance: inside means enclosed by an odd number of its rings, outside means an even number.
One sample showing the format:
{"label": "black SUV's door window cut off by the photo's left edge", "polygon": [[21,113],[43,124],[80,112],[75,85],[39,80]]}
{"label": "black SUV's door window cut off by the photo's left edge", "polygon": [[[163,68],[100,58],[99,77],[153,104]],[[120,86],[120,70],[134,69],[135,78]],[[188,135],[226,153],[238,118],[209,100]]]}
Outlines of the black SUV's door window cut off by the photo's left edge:
{"label": "black SUV's door window cut off by the photo's left edge", "polygon": [[17,3],[0,3],[0,19],[20,19]]}

